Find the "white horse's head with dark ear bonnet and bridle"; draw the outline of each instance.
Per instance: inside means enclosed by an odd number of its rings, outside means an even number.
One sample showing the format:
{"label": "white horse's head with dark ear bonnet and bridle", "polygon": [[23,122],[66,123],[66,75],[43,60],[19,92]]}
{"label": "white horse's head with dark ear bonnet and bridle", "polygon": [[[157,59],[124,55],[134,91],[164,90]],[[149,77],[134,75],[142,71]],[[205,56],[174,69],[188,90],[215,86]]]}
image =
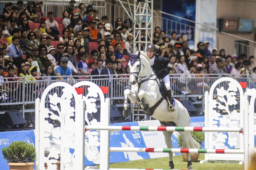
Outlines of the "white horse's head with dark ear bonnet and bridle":
{"label": "white horse's head with dark ear bonnet and bridle", "polygon": [[129,68],[130,68],[130,83],[132,85],[136,84],[138,81],[139,71],[141,70],[141,59],[140,52],[137,55],[130,56]]}

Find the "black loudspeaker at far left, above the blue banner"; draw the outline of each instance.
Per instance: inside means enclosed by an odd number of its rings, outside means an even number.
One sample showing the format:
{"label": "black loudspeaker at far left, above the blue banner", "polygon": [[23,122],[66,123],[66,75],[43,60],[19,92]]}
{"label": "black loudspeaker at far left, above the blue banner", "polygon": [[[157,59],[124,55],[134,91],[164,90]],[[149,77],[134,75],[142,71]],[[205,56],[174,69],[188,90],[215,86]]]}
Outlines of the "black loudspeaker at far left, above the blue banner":
{"label": "black loudspeaker at far left, above the blue banner", "polygon": [[0,119],[0,128],[20,128],[26,124],[20,111],[6,111]]}

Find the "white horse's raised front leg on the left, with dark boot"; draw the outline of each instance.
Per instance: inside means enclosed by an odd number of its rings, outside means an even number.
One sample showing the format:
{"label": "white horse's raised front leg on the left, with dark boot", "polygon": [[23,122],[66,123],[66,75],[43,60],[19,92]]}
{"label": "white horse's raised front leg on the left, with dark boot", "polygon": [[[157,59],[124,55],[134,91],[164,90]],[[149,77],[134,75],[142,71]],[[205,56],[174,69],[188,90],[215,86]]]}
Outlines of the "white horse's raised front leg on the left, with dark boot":
{"label": "white horse's raised front leg on the left, with dark boot", "polygon": [[130,99],[131,103],[138,101],[138,95],[136,92],[133,92],[129,89],[126,89],[125,92],[125,102],[123,103],[123,116],[127,118],[130,115],[130,108],[129,108],[129,102]]}

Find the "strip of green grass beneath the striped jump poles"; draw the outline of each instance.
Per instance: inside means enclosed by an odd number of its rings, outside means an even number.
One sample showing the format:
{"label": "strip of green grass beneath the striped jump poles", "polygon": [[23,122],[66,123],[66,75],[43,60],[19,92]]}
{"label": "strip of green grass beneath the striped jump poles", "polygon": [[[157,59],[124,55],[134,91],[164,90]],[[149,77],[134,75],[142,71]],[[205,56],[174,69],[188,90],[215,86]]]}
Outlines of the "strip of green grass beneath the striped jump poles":
{"label": "strip of green grass beneath the striped jump poles", "polygon": [[[234,163],[205,163],[200,164],[200,160],[204,160],[204,154],[200,154],[198,162],[192,162],[195,170],[244,170],[244,165]],[[187,162],[183,162],[182,156],[173,156],[174,169],[188,169]],[[132,160],[128,162],[118,162],[109,165],[110,168],[136,168],[136,169],[169,169],[169,157],[156,159]]]}

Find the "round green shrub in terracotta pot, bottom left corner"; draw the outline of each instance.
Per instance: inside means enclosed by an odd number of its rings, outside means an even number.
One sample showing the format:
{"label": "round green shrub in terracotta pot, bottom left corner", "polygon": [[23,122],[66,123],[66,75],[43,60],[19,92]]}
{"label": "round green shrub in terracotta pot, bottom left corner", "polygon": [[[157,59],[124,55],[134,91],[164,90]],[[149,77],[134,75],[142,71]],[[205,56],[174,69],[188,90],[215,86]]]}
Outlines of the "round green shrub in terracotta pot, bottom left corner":
{"label": "round green shrub in terracotta pot, bottom left corner", "polygon": [[25,141],[14,141],[2,148],[3,158],[9,162],[10,170],[33,170],[36,149]]}

